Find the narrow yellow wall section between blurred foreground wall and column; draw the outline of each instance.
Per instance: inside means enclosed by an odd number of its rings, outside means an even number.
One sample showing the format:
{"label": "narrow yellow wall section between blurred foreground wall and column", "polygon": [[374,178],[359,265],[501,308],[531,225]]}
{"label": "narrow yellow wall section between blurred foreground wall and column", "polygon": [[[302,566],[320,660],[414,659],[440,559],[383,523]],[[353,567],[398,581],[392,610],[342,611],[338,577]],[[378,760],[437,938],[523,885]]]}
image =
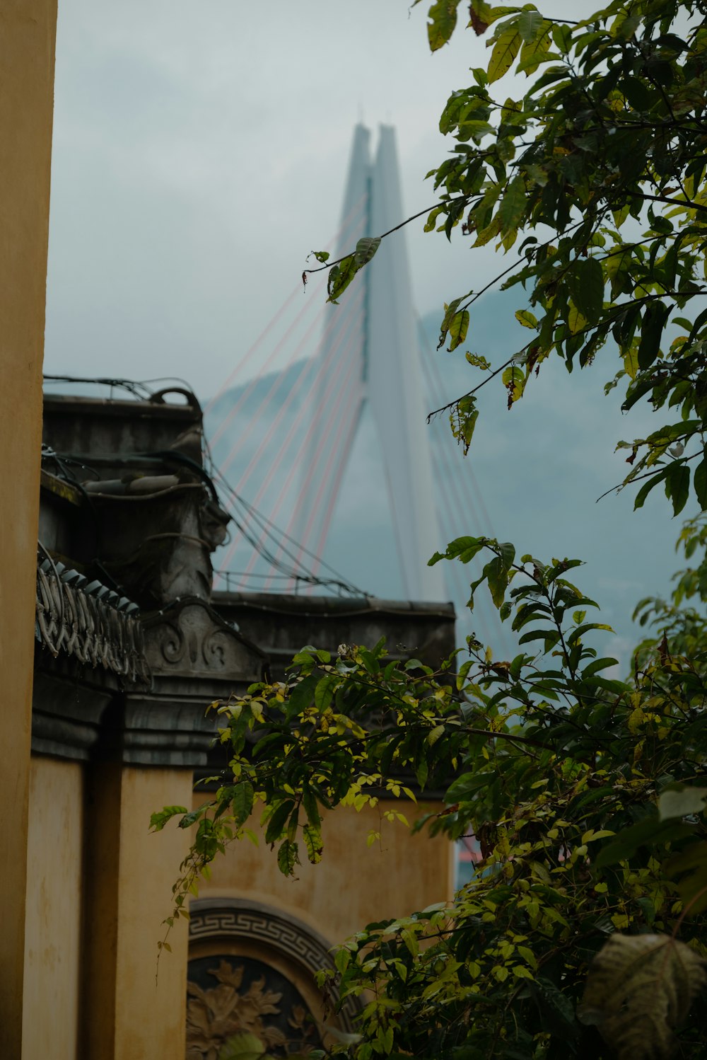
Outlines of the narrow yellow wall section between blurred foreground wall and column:
{"label": "narrow yellow wall section between blurred foreground wall and column", "polygon": [[78,763],[32,760],[22,1029],[29,1058],[77,1055],[83,789]]}

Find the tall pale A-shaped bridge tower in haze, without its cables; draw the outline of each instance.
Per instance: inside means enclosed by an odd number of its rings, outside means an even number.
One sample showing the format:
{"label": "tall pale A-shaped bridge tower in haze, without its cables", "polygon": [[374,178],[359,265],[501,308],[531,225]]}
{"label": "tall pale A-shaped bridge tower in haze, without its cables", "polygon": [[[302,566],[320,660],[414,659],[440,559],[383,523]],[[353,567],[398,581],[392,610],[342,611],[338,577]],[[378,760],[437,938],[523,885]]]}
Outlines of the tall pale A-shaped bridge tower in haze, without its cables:
{"label": "tall pale A-shaped bridge tower in haze, without its cables", "polygon": [[[381,126],[374,156],[370,131],[358,125],[334,257],[348,253],[361,236],[387,231],[404,216],[394,129]],[[357,314],[358,321],[354,329],[351,313]],[[342,341],[345,329],[347,338]],[[425,437],[427,409],[404,230],[383,240],[370,264],[342,296],[341,304],[327,307],[324,336],[316,355],[320,364],[314,384],[314,423],[303,461],[294,536],[322,555],[364,405],[368,403],[385,474],[404,594],[411,600],[443,600],[441,570],[427,566],[441,538]],[[328,400],[334,373],[346,379],[344,400],[338,404]],[[327,444],[332,418],[337,438]]]}

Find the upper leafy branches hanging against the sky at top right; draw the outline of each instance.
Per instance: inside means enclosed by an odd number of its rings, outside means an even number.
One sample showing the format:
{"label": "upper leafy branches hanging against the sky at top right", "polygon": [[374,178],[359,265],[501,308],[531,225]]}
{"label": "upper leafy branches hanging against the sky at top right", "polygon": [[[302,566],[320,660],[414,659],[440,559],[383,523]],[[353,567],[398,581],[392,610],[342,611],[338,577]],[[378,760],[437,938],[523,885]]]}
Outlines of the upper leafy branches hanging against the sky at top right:
{"label": "upper leafy branches hanging against the sky at top right", "polygon": [[[430,8],[433,51],[459,6]],[[472,246],[495,241],[505,252],[521,238],[510,266],[445,307],[439,344],[465,343],[473,304],[500,283],[521,284],[534,311],[524,298],[516,317],[532,334],[493,371],[483,351],[467,353],[485,374],[449,407],[465,449],[489,379],[501,376],[510,407],[550,354],[572,371],[606,347],[608,386],[624,388],[624,410],[641,400],[673,410],[673,423],[620,444],[631,450],[623,484],[642,482],[636,507],[664,482],[675,513],[690,484],[707,506],[704,11],[696,0],[632,0],[570,22],[473,0],[469,28],[489,33],[490,60],[450,98],[439,128],[454,146],[428,175],[439,191],[428,230],[458,228]],[[509,71],[531,78],[521,100],[494,94]],[[324,266],[330,300],[378,243]]]}

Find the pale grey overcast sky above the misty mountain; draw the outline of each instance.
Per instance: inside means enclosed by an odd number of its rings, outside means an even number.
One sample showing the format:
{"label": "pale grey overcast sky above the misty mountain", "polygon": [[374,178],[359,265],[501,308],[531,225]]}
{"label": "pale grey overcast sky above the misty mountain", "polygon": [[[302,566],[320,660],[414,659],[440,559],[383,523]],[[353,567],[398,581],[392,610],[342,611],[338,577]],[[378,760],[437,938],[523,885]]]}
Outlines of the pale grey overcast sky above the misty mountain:
{"label": "pale grey overcast sky above the misty mountain", "polygon": [[[488,53],[432,55],[427,7],[61,0],[46,370],[215,392],[336,231],[357,121],[395,125],[405,209],[432,204],[439,113]],[[421,314],[487,276],[421,220],[407,241]]]}

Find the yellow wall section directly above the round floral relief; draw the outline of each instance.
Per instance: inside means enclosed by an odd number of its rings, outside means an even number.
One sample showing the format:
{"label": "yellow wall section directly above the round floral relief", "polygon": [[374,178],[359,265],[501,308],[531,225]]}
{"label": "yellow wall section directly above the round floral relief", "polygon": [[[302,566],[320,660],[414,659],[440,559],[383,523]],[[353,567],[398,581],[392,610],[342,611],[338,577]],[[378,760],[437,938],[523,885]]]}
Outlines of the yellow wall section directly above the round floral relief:
{"label": "yellow wall section directly above the round floral relief", "polygon": [[[203,801],[203,793],[195,806]],[[411,835],[401,824],[380,819],[379,811],[402,811],[409,820],[436,807],[386,801],[361,813],[339,809],[324,820],[324,856],[310,865],[301,844],[304,864],[296,880],[277,869],[275,851],[260,840],[234,843],[225,858],[217,858],[212,879],[199,887],[199,898],[252,898],[290,913],[308,923],[332,944],[373,920],[404,916],[433,902],[451,899],[453,848],[443,837],[424,832]],[[381,841],[366,846],[369,831]]]}

